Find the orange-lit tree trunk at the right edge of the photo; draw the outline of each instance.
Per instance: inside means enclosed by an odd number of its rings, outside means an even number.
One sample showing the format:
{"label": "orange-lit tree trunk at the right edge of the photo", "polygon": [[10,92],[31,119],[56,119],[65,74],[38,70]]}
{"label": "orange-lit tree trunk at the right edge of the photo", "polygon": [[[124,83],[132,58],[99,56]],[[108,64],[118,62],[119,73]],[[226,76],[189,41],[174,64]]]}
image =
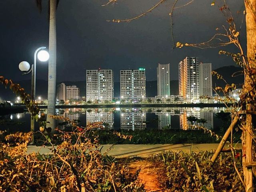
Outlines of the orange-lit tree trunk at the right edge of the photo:
{"label": "orange-lit tree trunk at the right edge of the photo", "polygon": [[[246,8],[246,34],[247,34],[247,59],[248,66],[246,67],[245,80],[244,80],[244,92],[246,96],[246,109],[255,110],[255,104],[252,98],[255,96],[256,80],[255,72],[256,62],[256,0],[244,0]],[[246,123],[243,126],[242,144],[243,144],[243,169],[244,169],[244,183],[246,185],[246,192],[253,187],[253,169],[252,167],[246,167],[246,163],[253,161],[253,144],[252,144],[252,115],[246,114]],[[255,144],[254,144],[255,145]]]}

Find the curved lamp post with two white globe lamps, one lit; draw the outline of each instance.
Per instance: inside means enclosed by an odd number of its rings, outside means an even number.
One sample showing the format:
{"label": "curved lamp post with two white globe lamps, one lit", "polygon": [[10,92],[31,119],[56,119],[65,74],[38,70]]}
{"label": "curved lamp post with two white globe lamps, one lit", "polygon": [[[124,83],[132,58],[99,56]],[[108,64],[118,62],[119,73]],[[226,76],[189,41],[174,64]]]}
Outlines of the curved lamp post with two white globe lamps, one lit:
{"label": "curved lamp post with two white globe lamps, one lit", "polygon": [[[34,52],[34,64],[31,65],[31,68],[30,68],[30,64],[26,61],[22,61],[19,64],[19,69],[23,72],[22,75],[27,75],[30,72],[32,72],[31,73],[31,76],[32,76],[32,82],[31,82],[32,102],[35,101],[35,97],[36,97],[36,56],[42,62],[48,61],[49,53],[46,50],[44,50],[45,48],[46,47],[39,47],[38,49],[36,49],[36,51]],[[33,117],[31,117],[30,130],[32,132],[34,132],[34,124],[35,124],[35,120]],[[33,142],[34,141],[32,141],[32,143]]]}

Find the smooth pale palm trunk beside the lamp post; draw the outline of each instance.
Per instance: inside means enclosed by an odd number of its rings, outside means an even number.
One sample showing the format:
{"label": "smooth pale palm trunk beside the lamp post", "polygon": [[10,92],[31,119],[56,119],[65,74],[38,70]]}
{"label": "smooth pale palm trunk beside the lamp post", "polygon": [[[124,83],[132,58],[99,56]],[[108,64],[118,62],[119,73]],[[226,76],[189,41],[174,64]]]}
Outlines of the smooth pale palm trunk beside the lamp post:
{"label": "smooth pale palm trunk beside the lamp post", "polygon": [[55,115],[56,100],[56,0],[50,0],[50,27],[49,27],[49,65],[48,65],[48,107],[47,127],[55,129],[55,120],[49,115]]}

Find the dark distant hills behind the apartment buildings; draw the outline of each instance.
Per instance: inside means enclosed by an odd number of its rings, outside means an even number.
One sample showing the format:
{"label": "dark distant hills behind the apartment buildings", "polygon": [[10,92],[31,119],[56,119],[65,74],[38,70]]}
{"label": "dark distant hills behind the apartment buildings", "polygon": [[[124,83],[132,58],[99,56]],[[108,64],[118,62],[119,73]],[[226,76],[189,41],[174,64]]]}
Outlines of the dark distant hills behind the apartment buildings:
{"label": "dark distant hills behind the apartment buildings", "polygon": [[[228,83],[235,83],[240,85],[244,82],[244,75],[240,73],[242,68],[236,66],[224,66],[218,68],[214,71],[218,72],[218,74],[222,75],[223,78]],[[232,74],[240,74],[238,76],[232,77]],[[20,84],[26,92],[31,92],[31,80],[24,80],[14,82]],[[62,82],[57,82],[57,85]],[[76,85],[80,88],[80,96],[86,96],[86,81],[63,81],[66,85]],[[170,81],[170,92],[172,95],[178,95],[179,91],[179,82],[178,80]],[[215,86],[225,86],[225,82],[223,80],[218,80],[216,76],[212,77],[212,85]],[[47,89],[48,89],[48,81],[46,80],[36,80],[36,96],[41,96],[43,99],[47,98]],[[146,97],[154,97],[157,95],[157,81],[146,81]],[[120,96],[120,82],[114,82],[114,96]],[[14,100],[16,96],[12,91],[4,86],[0,86],[0,100]]]}

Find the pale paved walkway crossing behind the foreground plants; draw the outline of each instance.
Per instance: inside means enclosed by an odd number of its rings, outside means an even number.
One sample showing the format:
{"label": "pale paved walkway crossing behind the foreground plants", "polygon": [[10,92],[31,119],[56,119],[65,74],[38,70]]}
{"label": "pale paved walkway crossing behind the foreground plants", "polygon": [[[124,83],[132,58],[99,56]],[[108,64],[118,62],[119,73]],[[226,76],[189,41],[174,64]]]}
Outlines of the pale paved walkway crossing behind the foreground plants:
{"label": "pale paved walkway crossing behind the foreground plants", "polygon": [[[112,145],[102,145],[102,153],[106,152],[108,148]],[[204,150],[215,150],[218,143],[214,144],[193,144],[192,150],[194,152],[204,151]],[[191,144],[155,144],[155,145],[135,145],[135,144],[123,144],[115,145],[112,150],[108,152],[108,155],[115,156],[118,158],[124,157],[147,157],[152,154],[158,154],[162,151],[184,151],[190,152]],[[227,148],[227,146],[226,146]],[[241,149],[241,144],[236,145],[237,149]],[[41,147],[41,146],[28,146],[28,154],[32,152],[39,152],[40,154],[50,154],[52,152],[51,147]]]}

